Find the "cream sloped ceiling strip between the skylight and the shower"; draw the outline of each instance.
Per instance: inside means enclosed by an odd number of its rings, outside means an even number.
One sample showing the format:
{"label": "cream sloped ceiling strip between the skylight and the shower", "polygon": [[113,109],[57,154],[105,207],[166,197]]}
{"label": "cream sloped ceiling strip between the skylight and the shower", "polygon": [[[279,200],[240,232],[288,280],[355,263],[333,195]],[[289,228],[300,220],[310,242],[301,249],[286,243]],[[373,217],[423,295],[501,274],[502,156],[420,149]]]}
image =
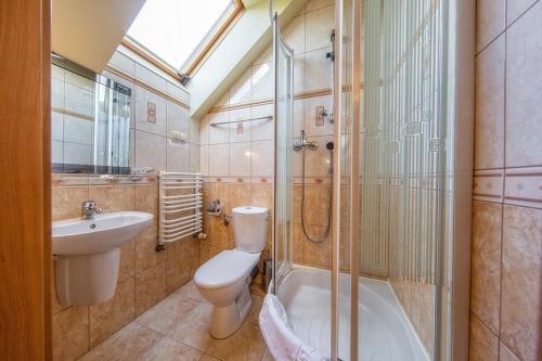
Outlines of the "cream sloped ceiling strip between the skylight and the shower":
{"label": "cream sloped ceiling strip between the skylight and the shower", "polygon": [[[306,0],[274,0],[284,26],[302,9]],[[193,118],[202,118],[271,43],[268,0],[243,0],[245,11],[188,85]]]}

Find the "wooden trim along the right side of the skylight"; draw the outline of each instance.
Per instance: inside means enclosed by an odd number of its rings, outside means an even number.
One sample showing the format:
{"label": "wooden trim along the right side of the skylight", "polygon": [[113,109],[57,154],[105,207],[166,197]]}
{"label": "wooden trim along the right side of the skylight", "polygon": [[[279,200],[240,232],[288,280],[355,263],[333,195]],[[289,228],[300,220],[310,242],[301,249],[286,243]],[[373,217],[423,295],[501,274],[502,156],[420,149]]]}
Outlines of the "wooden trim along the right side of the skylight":
{"label": "wooden trim along the right side of the skylight", "polygon": [[241,18],[245,12],[245,7],[241,0],[235,0],[235,10],[233,13],[224,21],[224,23],[218,28],[218,30],[212,35],[210,40],[204,46],[204,48],[197,52],[196,56],[189,59],[188,64],[183,65],[181,72],[186,74],[189,77],[193,77],[202,65],[207,61],[210,54],[217,49],[218,44],[223,40],[228,33],[233,28],[233,26]]}

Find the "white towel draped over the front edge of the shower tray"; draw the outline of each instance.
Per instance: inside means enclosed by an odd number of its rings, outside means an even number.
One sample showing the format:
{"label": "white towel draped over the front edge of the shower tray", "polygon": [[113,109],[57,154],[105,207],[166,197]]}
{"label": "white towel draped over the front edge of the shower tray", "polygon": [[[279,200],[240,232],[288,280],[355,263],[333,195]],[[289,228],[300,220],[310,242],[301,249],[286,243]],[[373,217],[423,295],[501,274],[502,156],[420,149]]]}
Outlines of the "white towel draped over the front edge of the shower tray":
{"label": "white towel draped over the front edge of the shower tray", "polygon": [[260,328],[275,361],[325,361],[319,352],[304,344],[294,333],[286,310],[276,296],[268,294],[263,299]]}

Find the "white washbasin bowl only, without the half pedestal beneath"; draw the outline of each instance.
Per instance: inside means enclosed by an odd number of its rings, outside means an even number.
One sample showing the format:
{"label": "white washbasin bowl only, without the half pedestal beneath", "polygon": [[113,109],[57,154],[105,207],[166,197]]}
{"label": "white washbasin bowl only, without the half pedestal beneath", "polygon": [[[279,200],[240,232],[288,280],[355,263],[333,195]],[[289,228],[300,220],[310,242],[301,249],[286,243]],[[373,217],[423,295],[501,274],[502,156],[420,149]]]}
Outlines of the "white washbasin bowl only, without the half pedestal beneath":
{"label": "white washbasin bowl only, without the half pedestal beneath", "polygon": [[114,211],[92,219],[53,222],[53,255],[90,255],[119,247],[143,232],[152,221],[151,214]]}

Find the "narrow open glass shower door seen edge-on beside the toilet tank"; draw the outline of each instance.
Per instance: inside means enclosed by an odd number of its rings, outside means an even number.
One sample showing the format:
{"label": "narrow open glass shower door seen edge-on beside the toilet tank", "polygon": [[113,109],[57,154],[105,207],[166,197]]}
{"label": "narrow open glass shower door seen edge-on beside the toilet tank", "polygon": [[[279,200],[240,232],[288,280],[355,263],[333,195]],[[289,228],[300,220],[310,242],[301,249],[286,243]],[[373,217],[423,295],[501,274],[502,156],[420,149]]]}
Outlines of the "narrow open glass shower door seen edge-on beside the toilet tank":
{"label": "narrow open glass shower door seen edge-on beside the toilet tank", "polygon": [[294,108],[294,53],[282,39],[276,14],[273,17],[273,50],[275,92],[273,293],[275,293],[282,278],[292,268],[292,123]]}

